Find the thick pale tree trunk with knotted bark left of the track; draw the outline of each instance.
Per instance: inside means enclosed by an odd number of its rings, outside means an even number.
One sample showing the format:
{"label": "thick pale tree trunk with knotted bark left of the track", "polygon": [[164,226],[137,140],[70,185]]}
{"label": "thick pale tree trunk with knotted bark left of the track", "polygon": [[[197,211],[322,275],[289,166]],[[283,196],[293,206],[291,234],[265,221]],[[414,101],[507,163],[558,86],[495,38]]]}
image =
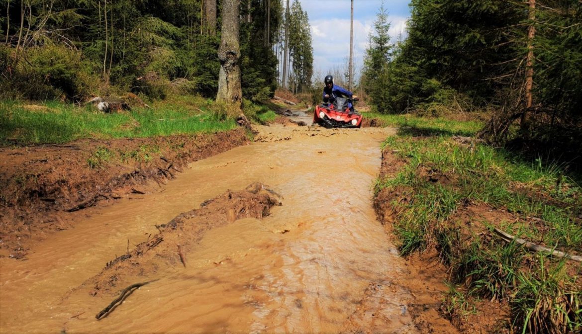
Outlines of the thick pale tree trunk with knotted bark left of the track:
{"label": "thick pale tree trunk with knotted bark left of the track", "polygon": [[220,73],[217,101],[226,102],[229,116],[237,116],[242,104],[240,85],[239,49],[240,0],[222,1],[222,38],[218,48]]}

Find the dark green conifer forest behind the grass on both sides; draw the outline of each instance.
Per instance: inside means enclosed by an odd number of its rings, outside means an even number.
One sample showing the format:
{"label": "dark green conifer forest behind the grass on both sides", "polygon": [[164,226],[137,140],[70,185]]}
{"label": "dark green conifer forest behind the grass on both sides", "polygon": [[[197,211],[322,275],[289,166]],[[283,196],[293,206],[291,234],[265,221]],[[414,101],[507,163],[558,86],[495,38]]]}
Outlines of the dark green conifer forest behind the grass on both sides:
{"label": "dark green conifer forest behind the grass on both sides", "polygon": [[[379,2],[352,87],[370,97],[372,108],[433,116],[484,111],[491,121],[482,137],[518,138],[513,144],[533,145],[538,154],[559,148],[551,159],[579,165],[580,1],[413,0],[410,6],[406,40],[392,41]],[[216,0],[2,0],[0,8],[3,100],[217,94],[222,8]],[[321,78],[312,83],[311,32],[300,2],[242,0],[240,18],[244,98],[265,102],[283,86],[312,93],[317,103]],[[340,84],[349,80],[347,66],[331,69]]]}

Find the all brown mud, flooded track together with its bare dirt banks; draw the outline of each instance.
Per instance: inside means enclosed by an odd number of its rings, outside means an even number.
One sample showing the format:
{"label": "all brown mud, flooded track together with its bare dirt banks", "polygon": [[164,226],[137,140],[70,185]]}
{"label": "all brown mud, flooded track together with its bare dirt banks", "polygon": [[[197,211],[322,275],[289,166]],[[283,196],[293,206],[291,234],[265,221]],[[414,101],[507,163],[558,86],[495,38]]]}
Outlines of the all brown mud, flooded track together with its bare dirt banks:
{"label": "all brown mud, flooded track together with its bare dirt banks", "polygon": [[[378,166],[404,164],[380,157],[395,129],[297,117],[250,145],[236,130],[3,149],[19,196],[2,207],[0,333],[456,332],[439,263],[400,257],[372,207]],[[87,166],[144,145],[159,158]]]}

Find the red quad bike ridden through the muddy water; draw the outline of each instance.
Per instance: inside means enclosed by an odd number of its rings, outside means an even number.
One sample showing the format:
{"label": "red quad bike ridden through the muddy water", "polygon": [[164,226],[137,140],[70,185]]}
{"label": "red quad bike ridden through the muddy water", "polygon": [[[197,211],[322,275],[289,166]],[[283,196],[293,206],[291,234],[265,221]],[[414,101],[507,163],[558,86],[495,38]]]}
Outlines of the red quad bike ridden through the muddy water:
{"label": "red quad bike ridden through the muddy water", "polygon": [[327,129],[331,129],[332,127],[360,127],[362,115],[356,111],[350,111],[350,104],[352,104],[351,99],[337,97],[333,101],[333,104],[315,106],[313,123],[319,124]]}

